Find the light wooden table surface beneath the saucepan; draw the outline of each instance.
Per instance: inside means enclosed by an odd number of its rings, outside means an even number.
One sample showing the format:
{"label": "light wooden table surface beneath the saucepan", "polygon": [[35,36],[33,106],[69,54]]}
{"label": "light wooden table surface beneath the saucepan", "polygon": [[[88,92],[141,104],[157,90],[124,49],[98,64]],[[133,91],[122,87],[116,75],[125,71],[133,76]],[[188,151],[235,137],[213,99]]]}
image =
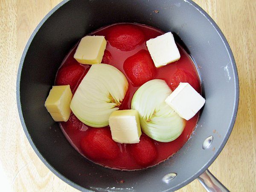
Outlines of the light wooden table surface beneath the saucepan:
{"label": "light wooden table surface beneath the saucepan", "polygon": [[[21,127],[16,102],[17,69],[26,42],[40,20],[60,1],[0,0],[0,167],[4,184],[13,191],[77,191],[37,157]],[[224,33],[239,73],[236,123],[227,145],[209,170],[231,191],[256,191],[256,0],[195,3]],[[204,189],[194,180],[178,191]]]}

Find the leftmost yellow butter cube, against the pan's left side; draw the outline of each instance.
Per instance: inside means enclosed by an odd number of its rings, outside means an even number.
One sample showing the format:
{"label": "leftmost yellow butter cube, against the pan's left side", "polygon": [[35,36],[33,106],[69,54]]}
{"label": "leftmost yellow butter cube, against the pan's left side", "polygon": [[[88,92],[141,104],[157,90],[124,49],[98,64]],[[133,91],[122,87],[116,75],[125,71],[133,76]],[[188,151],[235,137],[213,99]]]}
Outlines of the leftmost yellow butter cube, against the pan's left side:
{"label": "leftmost yellow butter cube, against the pan's left side", "polygon": [[67,122],[71,113],[71,99],[70,85],[52,86],[44,106],[54,121]]}

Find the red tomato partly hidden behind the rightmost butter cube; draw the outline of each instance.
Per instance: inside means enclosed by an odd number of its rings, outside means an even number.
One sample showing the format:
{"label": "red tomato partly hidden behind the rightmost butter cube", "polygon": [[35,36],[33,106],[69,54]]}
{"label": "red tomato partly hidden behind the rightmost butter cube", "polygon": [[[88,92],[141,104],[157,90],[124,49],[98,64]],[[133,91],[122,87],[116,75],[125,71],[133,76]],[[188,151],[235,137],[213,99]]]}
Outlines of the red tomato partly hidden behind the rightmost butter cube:
{"label": "red tomato partly hidden behind the rightmost butter cube", "polygon": [[189,83],[197,92],[200,91],[200,85],[199,85],[197,77],[193,76],[188,71],[178,69],[174,73],[171,83],[169,84],[172,91],[174,91],[178,87],[180,82]]}

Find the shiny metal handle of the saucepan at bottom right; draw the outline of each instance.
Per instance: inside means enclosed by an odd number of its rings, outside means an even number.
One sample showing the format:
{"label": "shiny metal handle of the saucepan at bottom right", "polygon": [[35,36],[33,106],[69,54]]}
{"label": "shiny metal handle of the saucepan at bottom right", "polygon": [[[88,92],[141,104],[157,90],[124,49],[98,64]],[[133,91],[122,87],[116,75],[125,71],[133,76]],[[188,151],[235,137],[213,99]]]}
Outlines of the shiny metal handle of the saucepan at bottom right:
{"label": "shiny metal handle of the saucepan at bottom right", "polygon": [[208,169],[198,177],[198,180],[207,192],[230,192]]}

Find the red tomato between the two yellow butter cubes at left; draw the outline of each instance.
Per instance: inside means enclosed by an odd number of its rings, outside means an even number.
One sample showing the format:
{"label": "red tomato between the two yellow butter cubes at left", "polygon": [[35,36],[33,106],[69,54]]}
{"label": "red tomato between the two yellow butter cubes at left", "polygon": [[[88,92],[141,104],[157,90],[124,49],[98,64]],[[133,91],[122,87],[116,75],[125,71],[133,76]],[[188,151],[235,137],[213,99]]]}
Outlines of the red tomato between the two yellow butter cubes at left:
{"label": "red tomato between the two yellow butter cubes at left", "polygon": [[70,85],[73,91],[83,76],[85,68],[80,64],[64,65],[58,70],[55,85]]}

